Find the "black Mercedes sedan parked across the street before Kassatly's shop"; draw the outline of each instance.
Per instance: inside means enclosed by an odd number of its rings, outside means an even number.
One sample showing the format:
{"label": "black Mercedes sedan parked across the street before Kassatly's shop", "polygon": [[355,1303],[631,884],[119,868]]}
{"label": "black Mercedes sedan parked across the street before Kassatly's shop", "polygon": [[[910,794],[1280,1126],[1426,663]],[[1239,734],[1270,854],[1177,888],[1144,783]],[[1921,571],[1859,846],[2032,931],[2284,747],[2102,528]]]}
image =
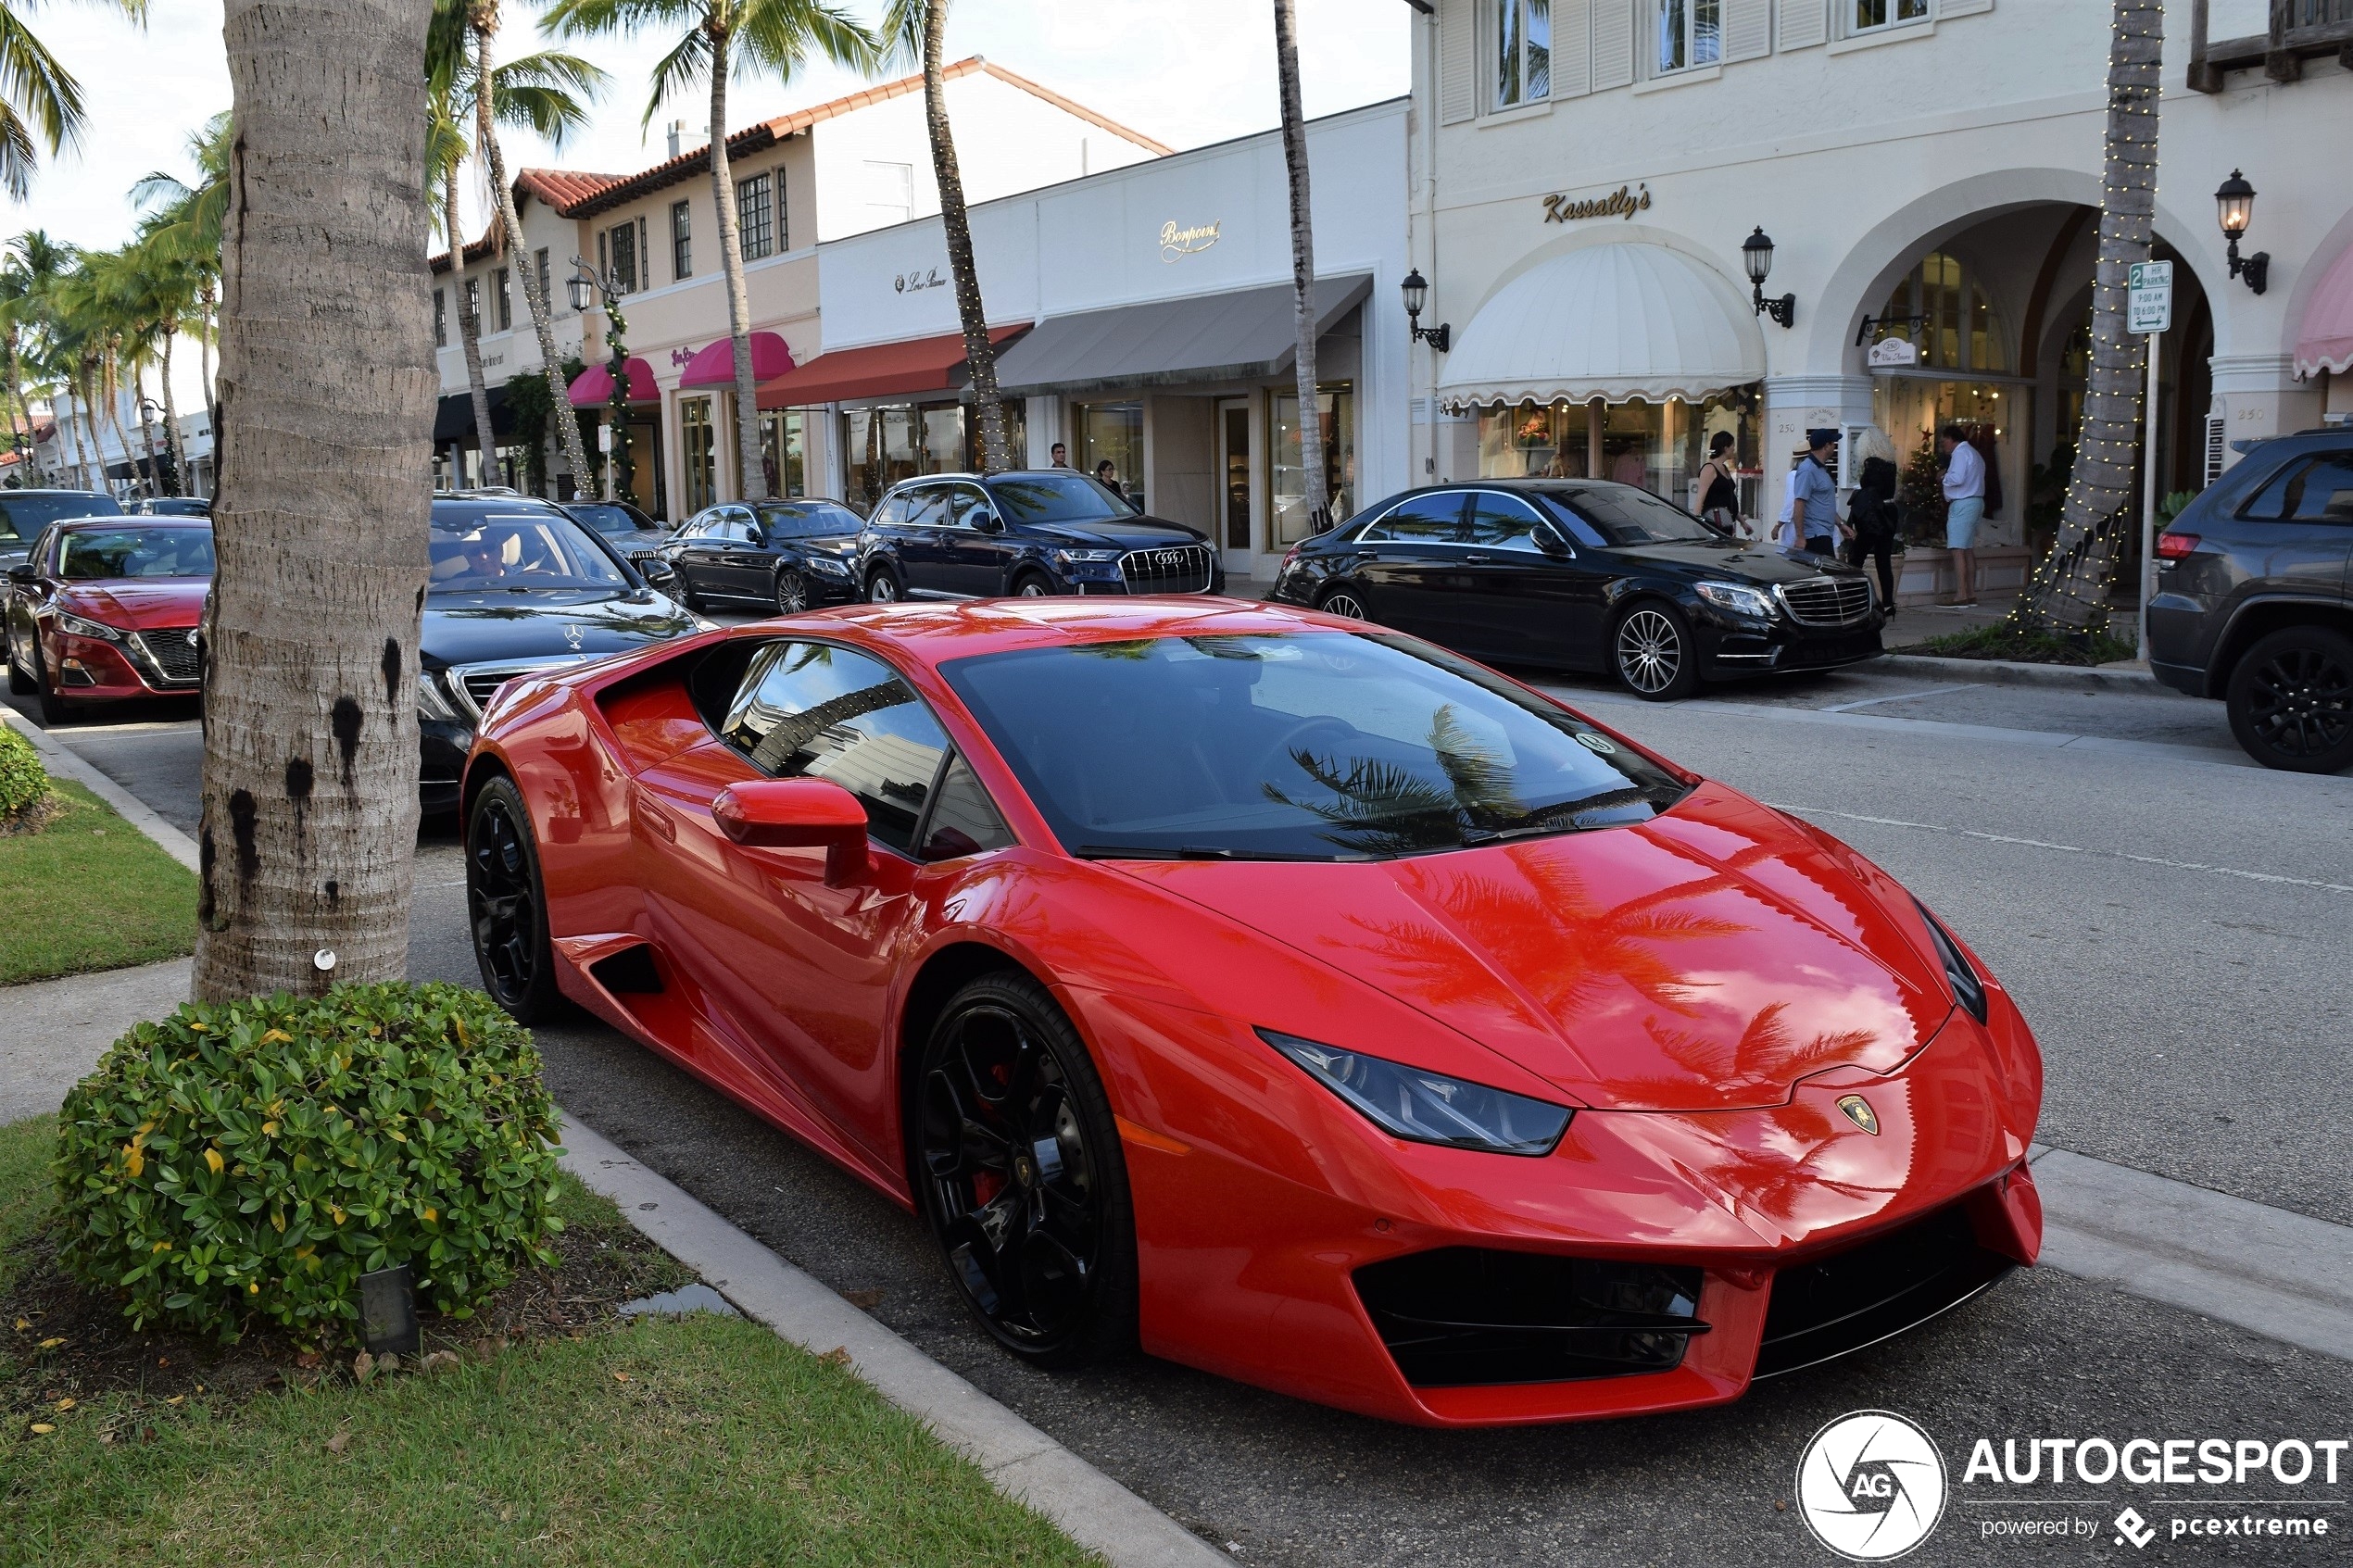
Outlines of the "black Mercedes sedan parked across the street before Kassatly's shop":
{"label": "black Mercedes sedan parked across the street before Kassatly's shop", "polygon": [[1854,567],[1729,538],[1600,480],[1391,496],[1292,548],[1266,597],[1492,663],[1609,672],[1652,701],[1875,658],[1887,623]]}

